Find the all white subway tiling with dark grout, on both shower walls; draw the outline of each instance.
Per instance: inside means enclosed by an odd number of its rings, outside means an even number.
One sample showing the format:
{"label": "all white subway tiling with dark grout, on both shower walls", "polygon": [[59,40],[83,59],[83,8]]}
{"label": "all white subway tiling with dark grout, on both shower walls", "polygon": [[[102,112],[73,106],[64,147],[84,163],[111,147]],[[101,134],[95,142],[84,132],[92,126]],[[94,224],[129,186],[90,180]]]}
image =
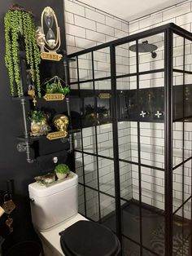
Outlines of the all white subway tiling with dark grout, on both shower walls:
{"label": "all white subway tiling with dark grout, on both shower walls", "polygon": [[[67,33],[68,54],[91,46],[96,46],[103,42],[109,42],[116,38],[123,38],[128,34],[141,32],[151,29],[161,24],[174,22],[186,30],[191,31],[192,23],[192,3],[184,2],[174,7],[165,9],[148,15],[145,18],[133,20],[129,24],[117,19],[103,11],[98,11],[93,7],[88,7],[81,2],[65,0],[65,22]],[[164,68],[164,36],[146,38],[151,43],[155,43],[159,48],[156,51],[157,57],[151,59],[151,54],[139,54],[139,70],[150,70]],[[174,38],[174,67],[180,68],[182,55],[181,38]],[[136,68],[135,53],[128,51],[129,44],[116,47],[116,68],[117,73],[133,73]],[[191,45],[185,48],[185,64],[191,70],[192,56]],[[79,60],[80,79],[89,79],[93,77],[90,55],[83,55]],[[94,53],[94,73],[95,77],[107,76],[110,73],[109,49],[97,51]],[[76,63],[70,67],[72,82],[76,81]],[[191,76],[191,75],[190,75]],[[185,77],[185,81],[192,81],[191,77]],[[156,73],[152,76],[147,75],[140,78],[140,87],[148,88],[155,86],[164,86],[164,74]],[[181,76],[174,74],[174,85],[181,84]],[[117,89],[129,90],[136,86],[136,77],[131,79],[124,78],[117,81]],[[72,86],[77,89],[77,85]],[[93,84],[81,84],[81,90],[93,89]],[[111,89],[110,81],[98,82],[95,89]],[[141,122],[141,161],[143,164],[164,168],[164,125],[162,123]],[[177,123],[174,129],[174,159],[173,162],[181,162],[182,155],[182,126]],[[187,123],[185,126],[185,156],[191,152],[192,126]],[[119,130],[119,150],[120,158],[137,162],[137,123],[124,121],[118,124]],[[83,147],[86,152],[96,152],[95,130],[93,127],[83,129]],[[98,133],[98,153],[102,156],[112,157],[112,132],[111,125],[97,127]],[[81,148],[80,135],[76,135],[76,148]],[[94,157],[89,155],[82,159],[81,153],[76,153],[76,172],[79,174],[80,182],[83,182],[82,165],[85,164],[85,184],[90,188],[98,189],[98,177],[96,172],[97,162]],[[191,190],[190,176],[191,163],[185,164],[185,198],[189,196]],[[98,159],[99,167],[99,189],[107,194],[114,196],[114,174],[113,161],[107,159]],[[177,168],[173,174],[173,196],[174,210],[181,205],[181,174],[182,169]],[[121,197],[125,199],[138,199],[138,176],[137,166],[125,164],[120,161],[120,190]],[[89,218],[98,220],[98,193],[86,189],[87,214]],[[84,213],[84,190],[80,187],[79,205],[81,213]],[[105,195],[100,196],[102,217],[115,209],[113,198]],[[149,205],[154,205],[164,209],[164,172],[160,170],[148,169],[142,167],[142,201]],[[177,213],[181,214],[181,213]],[[190,218],[190,203],[185,205],[185,217]]]}

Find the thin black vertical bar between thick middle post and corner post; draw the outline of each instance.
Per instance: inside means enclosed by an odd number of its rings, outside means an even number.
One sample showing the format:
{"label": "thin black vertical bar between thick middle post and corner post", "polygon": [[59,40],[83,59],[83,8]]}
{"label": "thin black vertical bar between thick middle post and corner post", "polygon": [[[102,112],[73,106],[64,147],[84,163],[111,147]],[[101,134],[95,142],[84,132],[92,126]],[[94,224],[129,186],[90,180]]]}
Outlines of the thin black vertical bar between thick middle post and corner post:
{"label": "thin black vertical bar between thick middle post and corner post", "polygon": [[[136,40],[136,73],[137,73],[137,102],[139,102],[139,58],[138,40]],[[142,174],[141,174],[141,141],[140,141],[140,121],[137,121],[137,153],[138,153],[138,188],[139,188],[139,237],[140,256],[142,256]]]}

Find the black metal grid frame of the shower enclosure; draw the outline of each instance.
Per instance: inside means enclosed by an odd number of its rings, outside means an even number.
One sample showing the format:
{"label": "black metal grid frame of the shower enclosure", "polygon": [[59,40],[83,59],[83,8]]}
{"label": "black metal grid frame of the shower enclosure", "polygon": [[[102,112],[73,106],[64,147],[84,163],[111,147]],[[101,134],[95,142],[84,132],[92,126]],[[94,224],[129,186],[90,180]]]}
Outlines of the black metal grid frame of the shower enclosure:
{"label": "black metal grid frame of the shower enclosure", "polygon": [[[143,71],[139,72],[139,62],[138,62],[138,51],[136,51],[136,67],[137,71],[136,73],[128,73],[125,75],[116,75],[116,46],[120,46],[122,44],[128,43],[128,42],[136,42],[136,48],[138,49],[138,40],[150,36],[154,36],[158,33],[164,33],[164,68],[159,68],[155,70],[150,71]],[[102,45],[94,46],[89,49],[85,49],[83,51],[78,51],[76,53],[73,53],[71,55],[68,55],[68,58],[76,58],[76,69],[77,69],[77,81],[76,82],[69,82],[70,85],[77,84],[78,90],[79,90],[79,97],[81,98],[81,84],[86,82],[93,82],[93,92],[94,92],[94,99],[95,99],[95,108],[96,108],[96,95],[95,95],[95,82],[103,81],[103,80],[111,80],[111,112],[112,112],[112,134],[113,134],[113,145],[116,145],[116,147],[113,147],[114,155],[113,157],[106,157],[98,154],[98,144],[97,144],[97,126],[95,126],[95,137],[96,137],[96,153],[86,152],[83,148],[83,137],[82,137],[82,130],[81,130],[81,148],[82,150],[75,150],[76,152],[81,152],[82,154],[82,164],[83,164],[83,174],[84,174],[84,182],[80,183],[84,187],[84,196],[86,196],[85,188],[90,188],[94,190],[95,192],[98,192],[98,207],[100,207],[100,197],[99,194],[104,194],[107,196],[111,196],[115,198],[116,200],[116,234],[120,238],[122,237],[121,233],[121,207],[120,207],[120,200],[124,198],[120,197],[120,165],[119,161],[124,161],[129,164],[137,165],[138,166],[138,177],[139,177],[139,205],[140,205],[140,255],[142,255],[142,249],[147,249],[148,251],[151,251],[150,249],[146,248],[144,245],[142,245],[142,179],[141,179],[141,167],[147,167],[147,168],[153,168],[154,170],[161,170],[164,171],[164,179],[165,179],[165,190],[164,190],[164,196],[165,196],[165,256],[171,256],[172,255],[172,219],[173,214],[175,214],[178,210],[183,208],[183,205],[187,201],[190,201],[190,197],[184,201],[184,197],[182,199],[182,205],[174,212],[172,213],[172,171],[176,170],[179,166],[184,166],[184,164],[187,161],[190,161],[192,159],[192,156],[188,159],[184,160],[184,153],[182,157],[182,162],[178,164],[177,166],[172,166],[172,123],[174,121],[182,121],[183,126],[186,118],[190,117],[183,117],[179,119],[174,119],[172,116],[172,105],[173,105],[173,99],[172,99],[172,92],[173,92],[173,85],[172,85],[172,74],[173,72],[182,73],[183,77],[185,77],[185,74],[192,74],[192,72],[185,70],[185,61],[183,64],[183,70],[173,68],[172,64],[172,58],[173,58],[173,52],[172,52],[172,46],[173,46],[173,33],[177,34],[178,36],[181,36],[184,38],[184,60],[185,60],[185,40],[192,41],[192,33],[186,31],[185,29],[182,29],[178,27],[176,24],[165,24],[162,26],[159,26],[154,29],[149,29],[146,31],[142,31],[141,33],[135,33],[133,35],[130,35],[125,38],[120,38],[112,42],[103,43]],[[101,50],[103,48],[109,47],[110,48],[110,58],[111,58],[111,76],[108,77],[94,77],[94,51]],[[80,55],[85,55],[87,53],[91,53],[91,60],[92,60],[92,73],[93,77],[92,79],[87,80],[80,80],[79,77],[79,64],[78,64],[78,57]],[[122,78],[122,77],[137,77],[137,90],[139,90],[139,76],[145,75],[149,73],[162,73],[164,72],[164,169],[155,167],[155,166],[148,166],[146,164],[142,164],[141,162],[141,148],[140,148],[140,121],[137,121],[137,151],[138,151],[138,161],[127,161],[124,159],[119,158],[119,147],[118,147],[118,129],[117,129],[117,102],[116,102],[116,79]],[[183,78],[184,86],[185,86],[185,78]],[[184,95],[183,95],[184,97]],[[81,104],[81,103],[80,103]],[[184,99],[183,99],[183,105],[184,105]],[[80,106],[81,107],[81,106]],[[184,106],[183,106],[184,107]],[[184,108],[183,108],[184,109]],[[96,109],[95,109],[96,111]],[[128,120],[129,121],[129,120]],[[81,126],[82,128],[82,126]],[[184,128],[184,127],[183,127]],[[182,139],[184,141],[184,129],[182,131]],[[183,142],[184,143],[184,142]],[[183,147],[184,152],[184,147]],[[98,188],[92,188],[89,187],[89,185],[85,184],[85,170],[84,170],[84,155],[90,155],[94,156],[97,159],[97,175],[98,175]],[[108,160],[114,161],[114,177],[115,177],[115,196],[112,196],[110,194],[107,194],[106,192],[102,192],[99,189],[99,174],[98,174],[98,158],[106,158]],[[191,175],[192,176],[192,175]],[[192,180],[191,180],[192,181]],[[184,172],[182,172],[182,192],[184,193]],[[86,202],[86,198],[85,198]],[[85,203],[85,215],[86,215],[86,203]],[[99,208],[99,220],[101,220],[101,213]],[[132,241],[131,238],[128,238],[130,241]],[[133,241],[135,242],[135,241]],[[137,244],[137,242],[135,242]],[[152,252],[155,254],[155,252]],[[158,255],[158,254],[156,254]]]}

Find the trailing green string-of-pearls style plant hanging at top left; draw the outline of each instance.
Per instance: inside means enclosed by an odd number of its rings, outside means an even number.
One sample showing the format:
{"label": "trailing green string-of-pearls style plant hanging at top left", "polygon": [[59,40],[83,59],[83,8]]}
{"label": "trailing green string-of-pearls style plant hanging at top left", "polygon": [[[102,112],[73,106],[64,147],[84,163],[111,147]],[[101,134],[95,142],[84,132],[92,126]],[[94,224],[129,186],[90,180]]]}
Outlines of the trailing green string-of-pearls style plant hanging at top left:
{"label": "trailing green string-of-pearls style plant hanging at top left", "polygon": [[11,95],[21,96],[20,90],[20,59],[21,48],[26,51],[26,61],[31,71],[33,84],[37,85],[38,96],[41,97],[41,83],[39,64],[41,62],[40,52],[37,46],[35,25],[31,12],[25,11],[24,7],[15,5],[5,15],[5,38],[6,55],[5,63],[8,69]]}

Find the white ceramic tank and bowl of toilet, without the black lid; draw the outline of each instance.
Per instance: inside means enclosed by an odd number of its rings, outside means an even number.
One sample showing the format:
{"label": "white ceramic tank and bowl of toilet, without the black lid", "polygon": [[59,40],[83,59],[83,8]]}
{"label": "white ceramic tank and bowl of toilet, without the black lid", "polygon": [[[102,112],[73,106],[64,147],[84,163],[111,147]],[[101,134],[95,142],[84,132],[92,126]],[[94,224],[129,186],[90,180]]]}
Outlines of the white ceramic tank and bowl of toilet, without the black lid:
{"label": "white ceramic tank and bowl of toilet, without the black lid", "polygon": [[45,256],[63,256],[59,232],[80,220],[78,214],[78,176],[50,185],[28,185],[33,226],[41,239]]}

